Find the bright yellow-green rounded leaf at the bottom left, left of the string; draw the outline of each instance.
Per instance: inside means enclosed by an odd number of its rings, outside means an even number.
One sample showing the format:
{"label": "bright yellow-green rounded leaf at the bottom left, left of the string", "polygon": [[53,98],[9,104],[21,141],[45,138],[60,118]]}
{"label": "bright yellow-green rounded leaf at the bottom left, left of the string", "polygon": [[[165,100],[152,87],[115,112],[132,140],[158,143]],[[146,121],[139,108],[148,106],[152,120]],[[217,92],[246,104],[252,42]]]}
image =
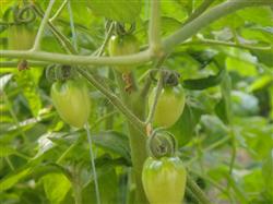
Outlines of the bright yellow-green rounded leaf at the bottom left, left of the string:
{"label": "bright yellow-green rounded leaf at the bottom left, left of the string", "polygon": [[70,181],[62,173],[48,173],[43,177],[43,183],[47,199],[52,204],[60,203],[71,188]]}

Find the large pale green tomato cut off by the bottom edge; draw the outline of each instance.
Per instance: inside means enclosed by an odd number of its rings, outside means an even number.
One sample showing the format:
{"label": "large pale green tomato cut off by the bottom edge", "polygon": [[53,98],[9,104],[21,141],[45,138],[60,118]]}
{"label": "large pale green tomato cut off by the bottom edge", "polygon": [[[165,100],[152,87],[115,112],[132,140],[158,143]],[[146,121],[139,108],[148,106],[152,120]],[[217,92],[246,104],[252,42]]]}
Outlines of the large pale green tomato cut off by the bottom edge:
{"label": "large pale green tomato cut off by the bottom edge", "polygon": [[143,166],[142,183],[151,204],[180,204],[187,171],[178,157],[149,157]]}

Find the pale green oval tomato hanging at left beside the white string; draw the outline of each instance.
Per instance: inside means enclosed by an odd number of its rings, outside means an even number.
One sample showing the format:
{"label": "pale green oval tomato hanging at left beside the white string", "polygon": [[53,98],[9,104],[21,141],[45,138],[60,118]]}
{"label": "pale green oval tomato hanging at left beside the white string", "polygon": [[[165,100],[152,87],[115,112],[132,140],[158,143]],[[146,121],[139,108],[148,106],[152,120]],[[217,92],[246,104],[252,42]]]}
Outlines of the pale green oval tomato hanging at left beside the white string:
{"label": "pale green oval tomato hanging at left beside the white string", "polygon": [[61,119],[72,127],[83,128],[91,111],[87,86],[75,80],[56,82],[50,94]]}

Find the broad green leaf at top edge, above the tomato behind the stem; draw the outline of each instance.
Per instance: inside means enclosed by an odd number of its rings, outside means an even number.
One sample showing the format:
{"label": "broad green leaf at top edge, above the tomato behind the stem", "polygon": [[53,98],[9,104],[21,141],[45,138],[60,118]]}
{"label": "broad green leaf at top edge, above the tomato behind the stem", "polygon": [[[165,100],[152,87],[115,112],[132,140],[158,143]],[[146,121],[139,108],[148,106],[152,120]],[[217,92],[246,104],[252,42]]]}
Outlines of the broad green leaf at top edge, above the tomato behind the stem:
{"label": "broad green leaf at top edge, above the tomato behind the stem", "polygon": [[141,11],[140,0],[88,0],[88,7],[96,15],[124,23],[134,22]]}

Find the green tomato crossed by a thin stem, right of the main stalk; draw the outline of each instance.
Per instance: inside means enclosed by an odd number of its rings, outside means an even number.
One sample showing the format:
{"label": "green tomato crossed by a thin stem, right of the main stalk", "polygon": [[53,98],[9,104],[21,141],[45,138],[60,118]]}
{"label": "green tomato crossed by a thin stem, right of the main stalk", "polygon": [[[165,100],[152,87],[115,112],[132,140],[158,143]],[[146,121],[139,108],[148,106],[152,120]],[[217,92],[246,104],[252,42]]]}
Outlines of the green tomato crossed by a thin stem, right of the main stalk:
{"label": "green tomato crossed by a thin stem, right of the main stalk", "polygon": [[[151,108],[156,95],[156,88],[149,97]],[[168,86],[162,89],[154,113],[154,124],[157,127],[169,128],[176,123],[183,111],[185,91],[182,86]]]}

